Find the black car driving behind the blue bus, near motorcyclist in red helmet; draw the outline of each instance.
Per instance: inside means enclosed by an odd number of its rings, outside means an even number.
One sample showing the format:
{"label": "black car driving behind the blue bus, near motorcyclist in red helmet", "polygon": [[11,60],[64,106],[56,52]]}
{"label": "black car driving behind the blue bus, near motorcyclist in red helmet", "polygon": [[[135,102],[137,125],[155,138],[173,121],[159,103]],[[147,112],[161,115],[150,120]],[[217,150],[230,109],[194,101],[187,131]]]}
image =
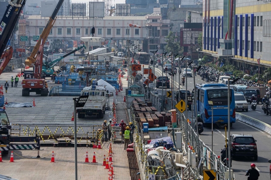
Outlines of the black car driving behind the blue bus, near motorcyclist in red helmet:
{"label": "black car driving behind the blue bus, near motorcyclist in red helmet", "polygon": [[258,159],[256,140],[251,134],[232,134],[230,142],[233,157],[251,156],[254,160]]}

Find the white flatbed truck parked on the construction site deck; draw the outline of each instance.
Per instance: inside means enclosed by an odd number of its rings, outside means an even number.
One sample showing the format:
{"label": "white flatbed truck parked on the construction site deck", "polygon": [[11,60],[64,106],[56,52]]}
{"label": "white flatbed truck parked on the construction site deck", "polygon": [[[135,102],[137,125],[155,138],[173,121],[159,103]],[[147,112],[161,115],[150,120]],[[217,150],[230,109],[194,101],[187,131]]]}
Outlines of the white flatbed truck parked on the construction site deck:
{"label": "white flatbed truck parked on the construction site deck", "polygon": [[78,118],[84,118],[85,115],[97,115],[97,118],[103,118],[107,94],[104,86],[85,87],[81,95],[89,96],[84,107],[77,108]]}

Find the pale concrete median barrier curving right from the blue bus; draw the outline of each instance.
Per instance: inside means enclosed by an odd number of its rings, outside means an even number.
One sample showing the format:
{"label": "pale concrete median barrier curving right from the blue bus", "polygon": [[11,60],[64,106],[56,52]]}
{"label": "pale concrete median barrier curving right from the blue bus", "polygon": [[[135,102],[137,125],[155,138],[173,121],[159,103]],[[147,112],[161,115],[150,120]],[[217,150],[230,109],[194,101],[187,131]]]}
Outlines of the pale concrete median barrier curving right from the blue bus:
{"label": "pale concrete median barrier curving right from the blue bus", "polygon": [[271,135],[271,125],[266,124],[265,122],[261,122],[260,120],[254,119],[238,112],[236,112],[236,119],[251,126],[254,126]]}

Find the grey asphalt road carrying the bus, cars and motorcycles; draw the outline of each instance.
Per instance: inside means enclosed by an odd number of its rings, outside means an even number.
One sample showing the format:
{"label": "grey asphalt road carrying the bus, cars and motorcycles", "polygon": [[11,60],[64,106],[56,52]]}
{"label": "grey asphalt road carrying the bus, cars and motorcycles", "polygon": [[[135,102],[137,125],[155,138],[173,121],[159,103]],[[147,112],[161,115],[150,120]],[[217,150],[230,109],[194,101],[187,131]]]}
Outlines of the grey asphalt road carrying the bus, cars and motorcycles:
{"label": "grey asphalt road carrying the bus, cars and motorcycles", "polygon": [[[157,69],[157,68],[156,68]],[[162,72],[161,66],[158,68]],[[161,75],[160,71],[156,71],[156,76]],[[166,74],[165,74],[166,75]],[[169,76],[171,78],[171,76]],[[177,83],[179,82],[179,78],[182,78],[182,76],[179,76],[177,74],[177,77],[175,78]],[[205,81],[201,80],[200,76],[196,76],[195,78],[196,84],[197,83],[204,83]],[[177,88],[179,85],[177,84]],[[182,87],[185,89],[185,86]],[[193,84],[193,78],[188,77],[187,81],[187,89],[192,92],[194,89]],[[164,90],[165,91],[165,90]],[[158,89],[159,93],[162,93],[162,88]],[[164,92],[165,94],[165,92]],[[257,105],[256,111],[252,111],[250,108],[250,105],[248,106],[248,112],[242,112],[239,111],[242,114],[245,114],[247,116],[256,118],[258,120],[261,120],[265,123],[271,124],[271,117],[266,116],[263,111],[261,110],[261,104]],[[195,117],[192,118],[192,112],[188,111],[188,118],[191,120],[195,120]],[[194,123],[194,122],[193,122]],[[236,121],[236,123],[233,124],[231,128],[231,134],[237,133],[237,134],[252,134],[253,137],[257,140],[257,150],[258,150],[258,160],[255,161],[253,158],[249,157],[243,157],[234,159],[232,162],[232,169],[235,174],[235,179],[247,179],[247,176],[244,176],[246,171],[250,168],[251,163],[255,163],[257,169],[259,170],[260,177],[259,180],[266,180],[270,178],[269,175],[269,165],[268,160],[271,159],[271,151],[270,151],[270,145],[271,144],[271,135],[268,135],[265,132],[262,132],[261,130],[254,128],[250,125],[247,125],[243,122]],[[227,132],[228,134],[228,132]],[[212,136],[212,130],[211,127],[204,127],[204,132],[200,135],[200,139],[204,141],[206,145],[211,147],[211,136]],[[220,129],[217,125],[214,125],[213,128],[213,150],[214,153],[217,155],[221,155],[221,149],[224,148],[225,144],[225,131],[224,129]]]}

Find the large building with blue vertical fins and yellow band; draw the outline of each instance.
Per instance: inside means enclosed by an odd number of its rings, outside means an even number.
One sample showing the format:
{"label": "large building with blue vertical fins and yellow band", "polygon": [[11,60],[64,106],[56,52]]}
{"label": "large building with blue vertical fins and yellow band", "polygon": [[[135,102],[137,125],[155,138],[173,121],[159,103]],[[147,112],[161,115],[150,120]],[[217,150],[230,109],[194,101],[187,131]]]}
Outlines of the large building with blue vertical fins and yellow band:
{"label": "large building with blue vertical fins and yellow band", "polygon": [[203,0],[203,53],[262,72],[271,66],[270,10],[268,1]]}

